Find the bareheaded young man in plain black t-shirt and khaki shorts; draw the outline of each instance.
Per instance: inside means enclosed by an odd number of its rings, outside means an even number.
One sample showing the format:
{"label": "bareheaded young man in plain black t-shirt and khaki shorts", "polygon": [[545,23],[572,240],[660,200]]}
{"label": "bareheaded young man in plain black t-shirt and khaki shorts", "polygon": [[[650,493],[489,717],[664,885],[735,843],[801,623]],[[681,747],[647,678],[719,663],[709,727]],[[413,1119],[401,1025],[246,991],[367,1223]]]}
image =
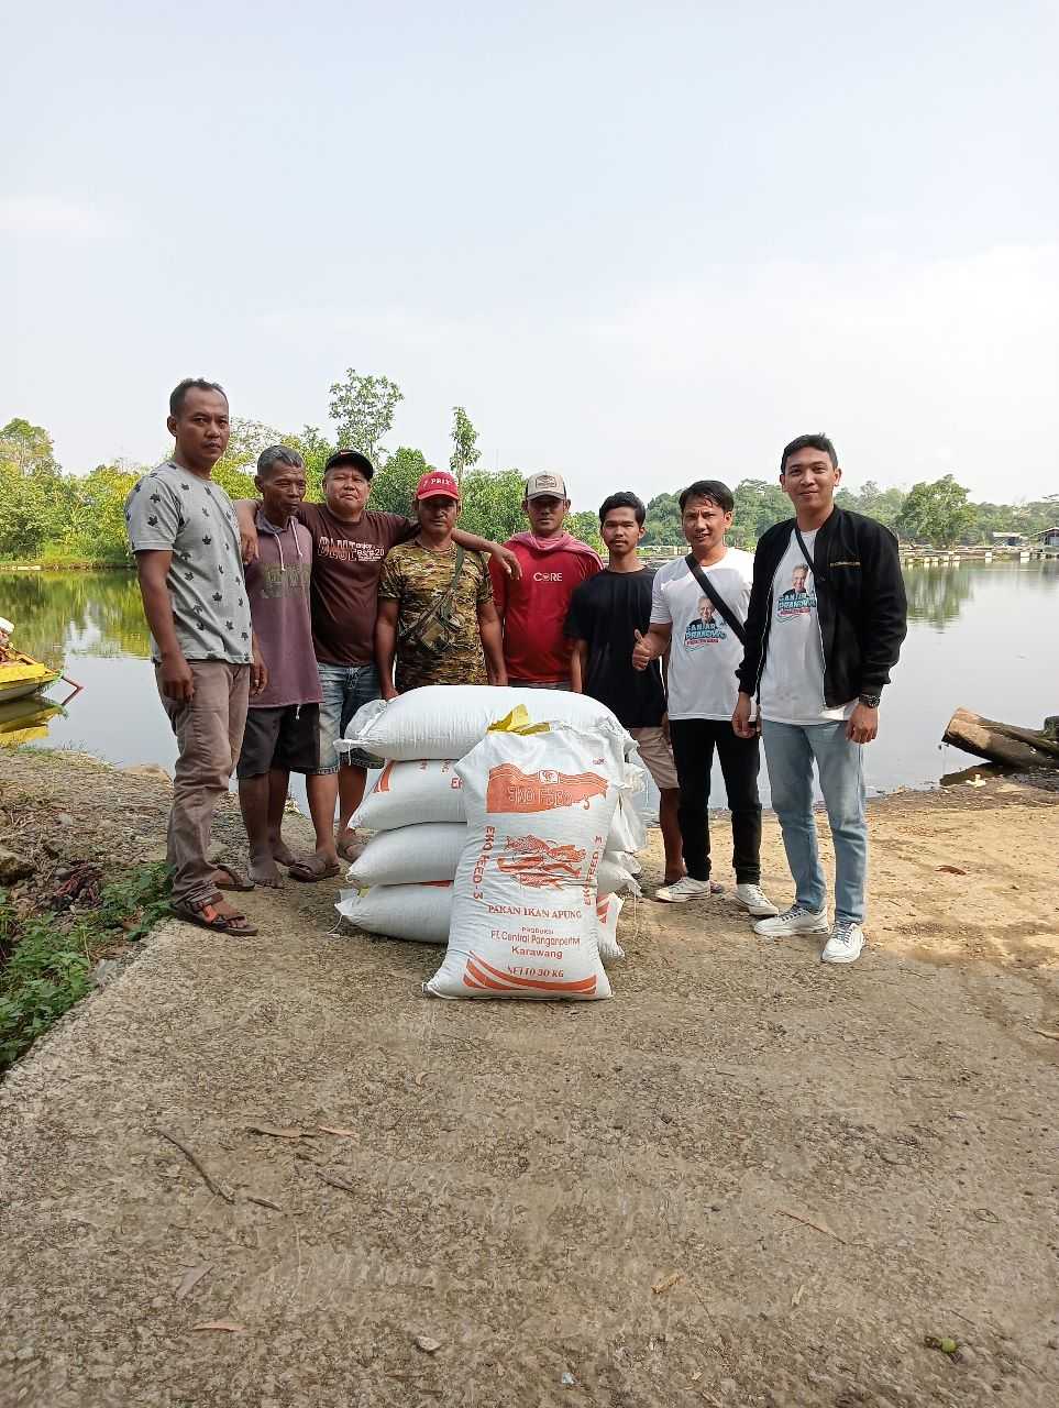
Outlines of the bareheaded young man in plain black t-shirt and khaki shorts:
{"label": "bareheaded young man in plain black t-shirt and khaki shorts", "polygon": [[579,694],[606,704],[639,745],[639,756],[660,794],[659,826],[666,852],[665,883],[684,874],[673,750],[669,746],[666,691],[662,662],[646,670],[632,669],[632,648],[651,625],[651,589],[655,573],[639,560],[646,508],[631,493],[611,494],[600,508],[600,535],[608,562],[603,572],[583,582],[566,615],[566,636],[573,641],[572,681]]}

